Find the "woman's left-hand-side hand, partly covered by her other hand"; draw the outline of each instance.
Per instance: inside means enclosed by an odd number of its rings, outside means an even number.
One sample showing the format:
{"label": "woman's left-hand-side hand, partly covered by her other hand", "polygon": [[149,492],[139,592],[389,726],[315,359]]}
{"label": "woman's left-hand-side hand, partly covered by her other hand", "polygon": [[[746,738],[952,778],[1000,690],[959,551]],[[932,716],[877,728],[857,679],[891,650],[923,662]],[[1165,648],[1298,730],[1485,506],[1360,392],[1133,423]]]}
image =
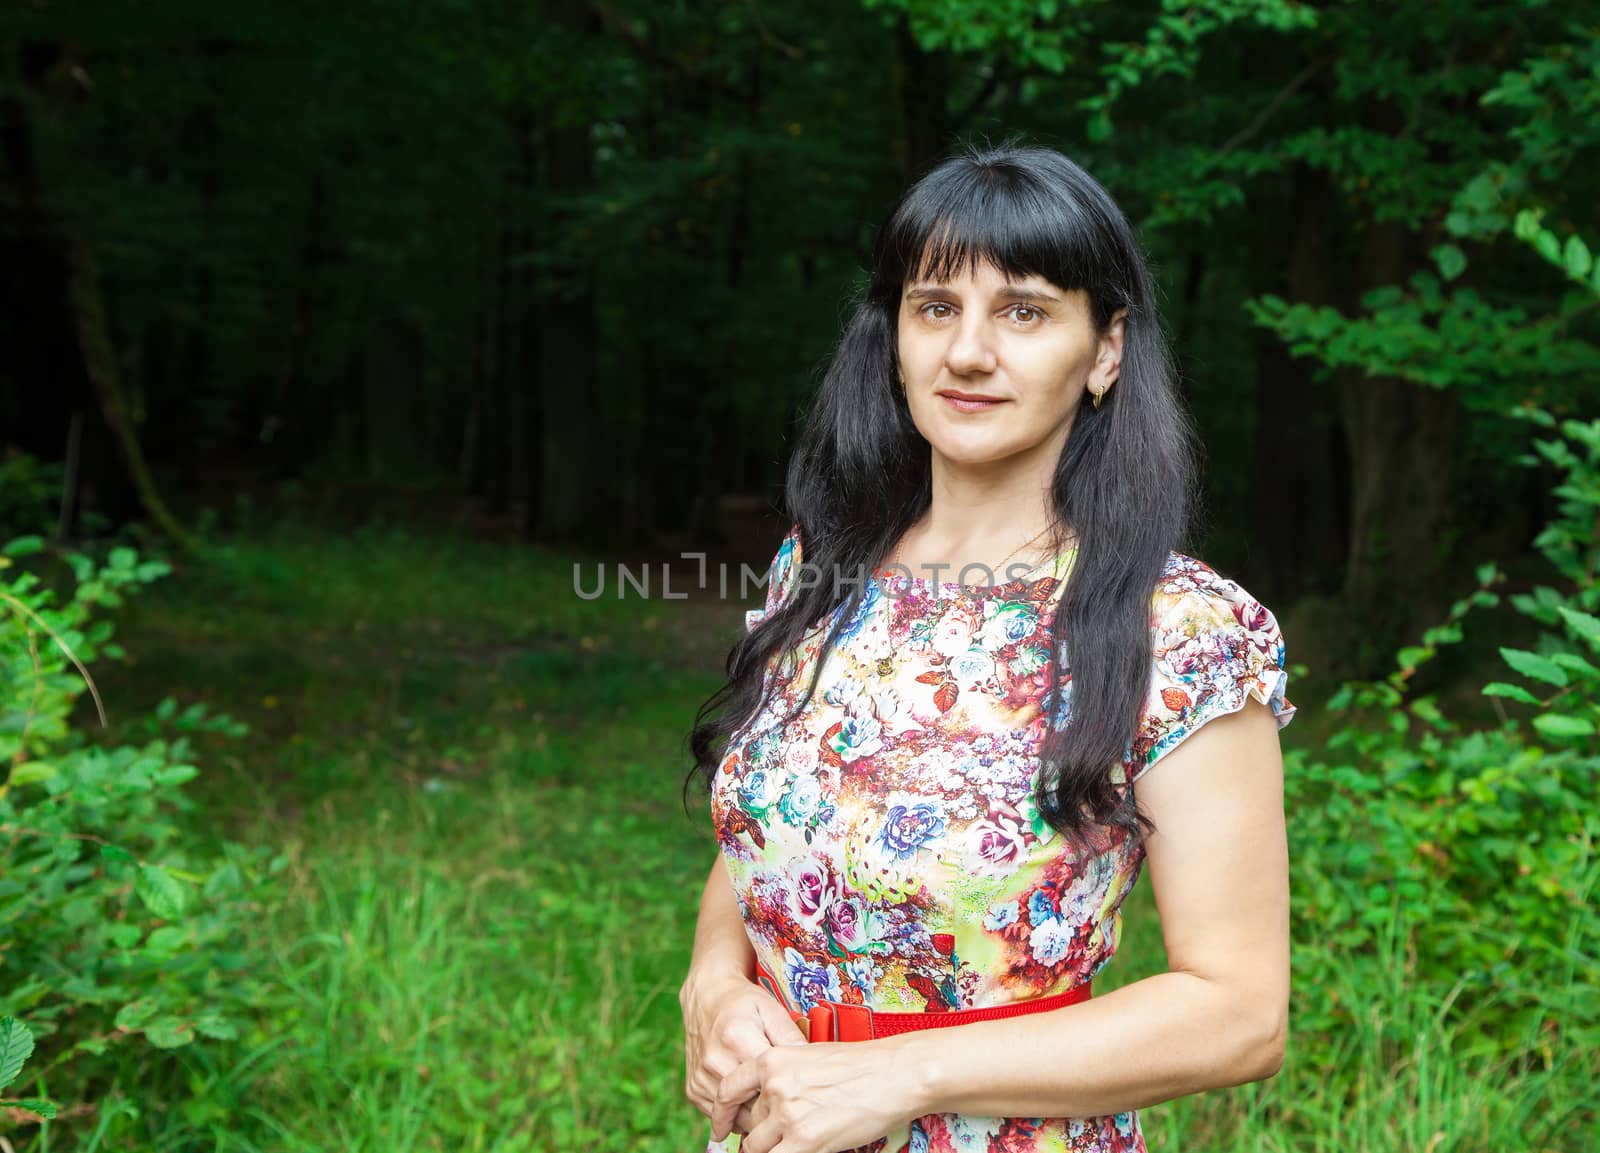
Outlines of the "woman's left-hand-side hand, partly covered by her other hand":
{"label": "woman's left-hand-side hand, partly covered by her other hand", "polygon": [[[678,990],[678,1004],[683,1009],[686,1039],[683,1094],[707,1118],[717,1107],[717,1091],[723,1076],[741,1062],[773,1046],[806,1044],[800,1027],[778,998],[738,974],[696,977],[691,972]],[[754,1100],[725,1110],[728,1127],[717,1135],[717,1140],[730,1132],[747,1132],[754,1124],[752,1105]]]}

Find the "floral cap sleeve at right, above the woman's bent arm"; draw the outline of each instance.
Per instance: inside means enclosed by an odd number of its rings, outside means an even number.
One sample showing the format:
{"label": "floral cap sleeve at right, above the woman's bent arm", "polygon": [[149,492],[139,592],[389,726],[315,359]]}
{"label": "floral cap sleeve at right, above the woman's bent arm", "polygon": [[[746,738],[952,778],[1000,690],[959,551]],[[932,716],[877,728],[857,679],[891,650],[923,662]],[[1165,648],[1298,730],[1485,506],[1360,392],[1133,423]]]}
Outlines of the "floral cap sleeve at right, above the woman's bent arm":
{"label": "floral cap sleeve at right, above the woman's bent arm", "polygon": [[1170,568],[1152,601],[1150,694],[1120,774],[1130,784],[1206,721],[1235,713],[1250,697],[1282,729],[1294,718],[1285,696],[1283,633],[1266,604],[1237,580],[1194,558]]}

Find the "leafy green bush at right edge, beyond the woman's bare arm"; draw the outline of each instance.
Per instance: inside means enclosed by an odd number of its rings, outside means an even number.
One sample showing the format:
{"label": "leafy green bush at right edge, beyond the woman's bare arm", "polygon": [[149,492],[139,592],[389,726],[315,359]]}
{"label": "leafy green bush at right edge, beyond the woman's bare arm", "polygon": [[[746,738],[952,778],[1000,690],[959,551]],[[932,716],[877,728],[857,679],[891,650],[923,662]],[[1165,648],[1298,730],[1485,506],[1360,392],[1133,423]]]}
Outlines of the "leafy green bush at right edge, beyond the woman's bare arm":
{"label": "leafy green bush at right edge, beyond the woman's bare arm", "polygon": [[[1539,409],[1522,416],[1554,429]],[[1563,475],[1536,545],[1558,584],[1512,598],[1542,627],[1531,651],[1501,649],[1515,680],[1483,692],[1499,728],[1464,731],[1434,696],[1411,696],[1419,665],[1493,608],[1493,565],[1386,680],[1328,702],[1346,713],[1331,756],[1296,750],[1286,772],[1294,846],[1296,983],[1350,987],[1349,971],[1403,945],[1403,972],[1373,987],[1430,996],[1458,1036],[1486,1049],[1594,1052],[1600,1044],[1600,421],[1536,441]],[[1389,948],[1386,948],[1389,947]],[[1358,985],[1357,985],[1358,987]],[[1296,1033],[1368,1028],[1357,1004],[1318,998]],[[1395,1038],[1403,1043],[1405,1038]]]}

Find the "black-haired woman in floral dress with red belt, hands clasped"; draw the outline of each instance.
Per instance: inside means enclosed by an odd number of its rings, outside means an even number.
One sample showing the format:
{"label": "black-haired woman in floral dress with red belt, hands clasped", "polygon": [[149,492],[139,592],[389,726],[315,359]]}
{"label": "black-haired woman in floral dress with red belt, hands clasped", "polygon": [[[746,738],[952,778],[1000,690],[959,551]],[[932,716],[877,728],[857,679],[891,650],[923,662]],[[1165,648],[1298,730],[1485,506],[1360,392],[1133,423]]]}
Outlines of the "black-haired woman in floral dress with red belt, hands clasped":
{"label": "black-haired woman in floral dress with red belt, hands clasped", "polygon": [[[1190,473],[1106,190],[1011,144],[918,181],[691,737],[707,1148],[1142,1150],[1139,1107],[1277,1071],[1294,707],[1274,616],[1174,552]],[[1146,860],[1168,971],[1088,996]]]}

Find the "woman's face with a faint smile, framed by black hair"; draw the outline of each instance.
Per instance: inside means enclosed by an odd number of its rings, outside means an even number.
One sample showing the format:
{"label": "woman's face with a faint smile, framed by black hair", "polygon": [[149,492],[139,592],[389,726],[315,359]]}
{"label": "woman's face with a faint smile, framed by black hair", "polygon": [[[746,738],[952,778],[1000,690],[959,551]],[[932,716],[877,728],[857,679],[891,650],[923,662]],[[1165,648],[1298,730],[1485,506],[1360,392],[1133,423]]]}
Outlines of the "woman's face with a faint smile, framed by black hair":
{"label": "woman's face with a faint smile, framed by black hair", "polygon": [[[1096,337],[1090,297],[990,264],[901,289],[899,366],[912,421],[952,462],[989,464],[1066,443],[1090,390],[1110,389],[1126,309]],[[974,400],[962,400],[963,397]]]}

